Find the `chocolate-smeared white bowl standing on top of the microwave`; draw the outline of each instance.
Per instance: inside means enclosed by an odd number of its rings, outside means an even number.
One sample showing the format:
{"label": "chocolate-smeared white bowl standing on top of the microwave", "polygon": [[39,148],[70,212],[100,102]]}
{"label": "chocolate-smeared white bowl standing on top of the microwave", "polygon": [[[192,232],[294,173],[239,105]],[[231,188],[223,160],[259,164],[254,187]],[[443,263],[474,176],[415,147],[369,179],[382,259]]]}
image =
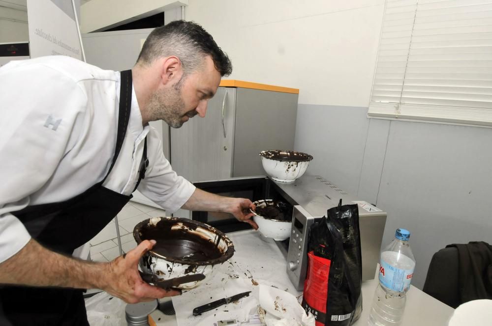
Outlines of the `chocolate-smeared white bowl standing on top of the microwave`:
{"label": "chocolate-smeared white bowl standing on top of the microwave", "polygon": [[295,151],[261,151],[261,163],[265,172],[279,182],[293,182],[306,172],[312,156]]}

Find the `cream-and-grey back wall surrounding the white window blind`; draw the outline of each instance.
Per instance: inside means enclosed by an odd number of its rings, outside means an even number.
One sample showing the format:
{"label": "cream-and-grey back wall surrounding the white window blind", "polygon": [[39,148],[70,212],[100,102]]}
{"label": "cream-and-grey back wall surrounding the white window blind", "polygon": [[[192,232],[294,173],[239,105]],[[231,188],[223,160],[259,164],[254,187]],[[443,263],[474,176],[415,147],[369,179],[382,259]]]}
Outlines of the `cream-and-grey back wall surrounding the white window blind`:
{"label": "cream-and-grey back wall surrounding the white window blind", "polygon": [[383,11],[383,0],[190,0],[186,19],[230,55],[232,79],[300,89],[308,173],[388,212],[383,244],[412,232],[422,288],[440,248],[492,243],[492,129],[367,118]]}

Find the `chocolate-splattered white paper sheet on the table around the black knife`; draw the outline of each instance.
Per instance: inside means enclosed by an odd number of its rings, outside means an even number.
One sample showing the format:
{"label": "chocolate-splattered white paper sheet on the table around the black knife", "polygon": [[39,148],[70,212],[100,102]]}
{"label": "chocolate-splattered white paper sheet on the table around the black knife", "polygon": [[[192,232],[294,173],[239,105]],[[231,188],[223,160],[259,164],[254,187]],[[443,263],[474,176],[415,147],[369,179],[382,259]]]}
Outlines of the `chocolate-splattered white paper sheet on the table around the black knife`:
{"label": "chocolate-splattered white paper sheet on the table around the black knife", "polygon": [[[256,314],[259,305],[259,284],[274,286],[299,297],[286,271],[287,262],[271,239],[262,238],[256,231],[228,234],[236,252],[222,265],[214,267],[214,277],[206,284],[173,297],[179,326],[214,326],[217,321],[238,320],[245,323]],[[209,302],[252,291],[249,297],[236,303],[222,305],[216,310],[193,316],[194,308]]]}

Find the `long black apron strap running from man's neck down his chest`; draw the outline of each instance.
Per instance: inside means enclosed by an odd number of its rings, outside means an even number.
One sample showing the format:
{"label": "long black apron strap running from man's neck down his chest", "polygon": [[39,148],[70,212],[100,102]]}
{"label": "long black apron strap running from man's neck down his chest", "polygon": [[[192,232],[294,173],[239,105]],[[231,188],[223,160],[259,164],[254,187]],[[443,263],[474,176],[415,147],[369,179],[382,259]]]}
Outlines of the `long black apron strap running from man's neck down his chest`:
{"label": "long black apron strap running from man's neck down his chest", "polygon": [[124,70],[120,74],[120,111],[118,113],[118,132],[116,136],[115,155],[113,156],[113,162],[111,162],[108,173],[102,180],[103,183],[113,169],[113,166],[116,163],[116,159],[118,159],[118,155],[120,154],[120,150],[123,146],[124,136],[126,134],[126,127],[128,126],[128,121],[130,120],[132,89],[131,70]]}

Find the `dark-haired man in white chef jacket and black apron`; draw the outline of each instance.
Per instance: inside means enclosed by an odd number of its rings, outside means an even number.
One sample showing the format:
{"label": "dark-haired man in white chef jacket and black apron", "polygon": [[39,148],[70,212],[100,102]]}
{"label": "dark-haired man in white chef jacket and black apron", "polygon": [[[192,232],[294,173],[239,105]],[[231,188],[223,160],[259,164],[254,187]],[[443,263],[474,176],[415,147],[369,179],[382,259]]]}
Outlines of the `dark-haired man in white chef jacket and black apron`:
{"label": "dark-haired man in white chef jacket and black apron", "polygon": [[163,208],[250,219],[250,200],[196,189],[176,175],[148,122],[204,117],[229,58],[190,22],[156,28],[131,71],[64,56],[0,69],[0,325],[88,325],[82,291],[126,302],[178,295],[145,283],[144,241],[110,263],[70,257],[135,189]]}

